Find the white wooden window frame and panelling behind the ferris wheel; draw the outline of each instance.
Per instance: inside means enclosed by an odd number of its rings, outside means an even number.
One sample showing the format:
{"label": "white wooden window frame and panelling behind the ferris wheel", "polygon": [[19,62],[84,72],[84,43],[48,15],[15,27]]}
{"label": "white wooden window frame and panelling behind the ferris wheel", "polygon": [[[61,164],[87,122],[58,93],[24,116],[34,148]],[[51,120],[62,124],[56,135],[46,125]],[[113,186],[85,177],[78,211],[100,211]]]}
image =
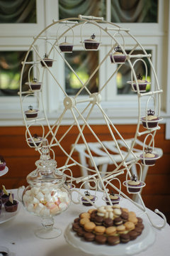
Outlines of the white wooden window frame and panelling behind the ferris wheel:
{"label": "white wooden window frame and panelling behind the ferris wheel", "polygon": [[[111,0],[102,1],[106,6],[106,19],[111,21]],[[162,116],[164,122],[170,125],[170,102],[168,97],[170,80],[168,74],[169,58],[169,1],[158,0],[158,22],[157,23],[118,23],[123,28],[130,28],[135,38],[142,44],[146,50],[152,51],[152,63],[157,73],[160,87],[164,90],[162,94]],[[13,24],[0,24],[1,35],[0,35],[0,50],[28,50],[31,43],[33,43],[33,36],[37,36],[43,28],[52,23],[52,19],[59,18],[59,3],[56,0],[37,0],[36,1],[37,11],[37,23],[13,23]],[[93,14],[91,14],[93,15]],[[75,33],[75,38],[78,36],[78,31]],[[52,28],[47,31],[45,36],[56,36],[56,31]],[[89,36],[89,31],[84,31],[84,36]],[[132,41],[126,38],[127,45],[126,49],[132,48]],[[107,53],[110,47],[108,38],[103,38],[103,43],[98,50],[99,61],[102,60],[103,56]],[[38,46],[37,46],[38,47]],[[45,46],[44,46],[45,48]],[[39,49],[38,49],[39,50]],[[77,50],[81,50],[77,47]],[[41,54],[43,55],[43,51]],[[35,56],[36,58],[36,56]],[[63,61],[57,57],[58,65],[55,74],[58,75],[61,84],[65,85],[65,70]],[[113,65],[106,62],[103,68],[99,72],[99,88],[103,85],[104,79],[107,74],[113,71]],[[151,74],[152,78],[152,74]],[[56,115],[60,115],[63,108],[63,93],[57,89],[55,82],[52,80],[50,75],[47,75],[45,80],[49,87],[45,88],[45,108],[49,117],[49,121],[52,123],[56,119]],[[135,111],[137,107],[137,100],[135,95],[121,95],[118,94],[116,87],[116,76],[108,83],[106,90],[102,91],[102,105],[103,108],[108,112],[111,119],[115,123],[136,123],[137,113]],[[55,97],[54,97],[55,95]],[[83,96],[80,96],[83,97]],[[1,125],[20,125],[22,124],[22,115],[18,97],[1,97],[0,99],[0,117]],[[144,102],[145,104],[145,102]],[[84,107],[84,106],[83,106]],[[101,117],[98,114],[94,114],[94,117],[90,120],[94,124],[102,124]],[[64,119],[64,124],[69,124],[69,115]],[[169,129],[170,130],[170,129]],[[167,132],[167,137],[170,134]]]}

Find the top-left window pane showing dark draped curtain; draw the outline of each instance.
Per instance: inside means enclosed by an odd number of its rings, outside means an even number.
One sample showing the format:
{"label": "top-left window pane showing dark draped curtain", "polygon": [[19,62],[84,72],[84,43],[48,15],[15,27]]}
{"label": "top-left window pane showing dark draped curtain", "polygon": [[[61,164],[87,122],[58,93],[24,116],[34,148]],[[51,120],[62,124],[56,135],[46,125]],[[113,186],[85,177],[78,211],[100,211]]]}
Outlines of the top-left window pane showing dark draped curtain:
{"label": "top-left window pane showing dark draped curtain", "polygon": [[36,23],[36,0],[0,1],[0,23]]}

